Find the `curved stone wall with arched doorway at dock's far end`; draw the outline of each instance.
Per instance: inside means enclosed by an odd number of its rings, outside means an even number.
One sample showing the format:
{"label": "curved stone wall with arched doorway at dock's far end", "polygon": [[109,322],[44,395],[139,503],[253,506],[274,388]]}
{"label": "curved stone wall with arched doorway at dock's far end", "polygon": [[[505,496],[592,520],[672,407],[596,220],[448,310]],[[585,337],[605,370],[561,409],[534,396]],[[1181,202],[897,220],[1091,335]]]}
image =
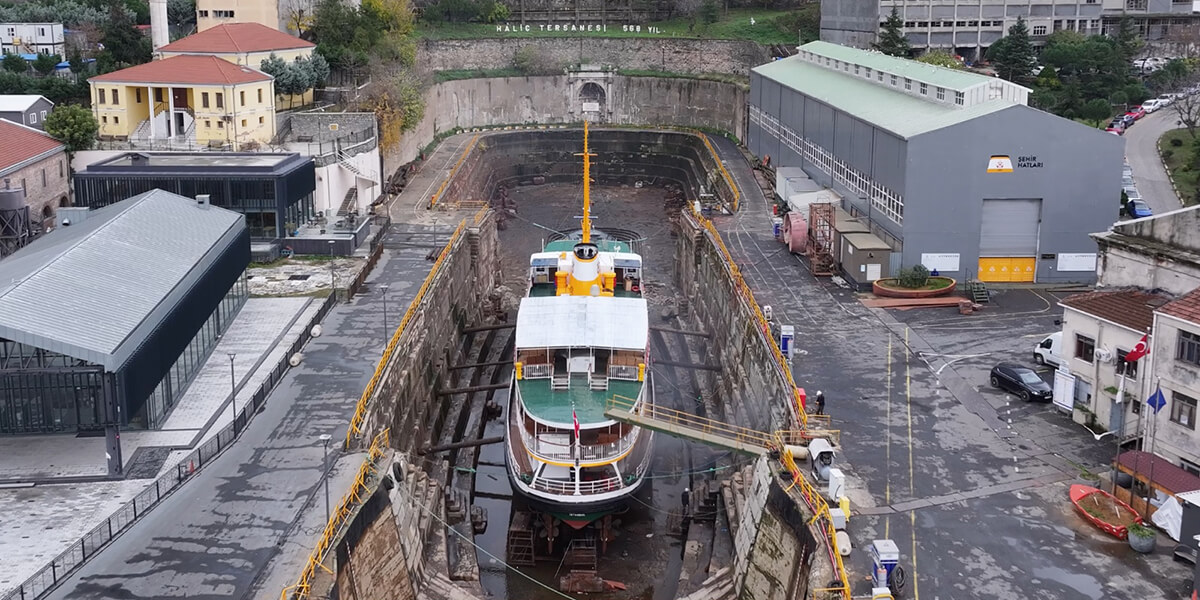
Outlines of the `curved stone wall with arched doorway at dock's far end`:
{"label": "curved stone wall with arched doorway at dock's far end", "polygon": [[[605,90],[605,110],[584,114],[580,90],[595,83]],[[660,125],[727,131],[745,138],[746,90],[732,83],[611,73],[580,76],[460,79],[425,92],[425,118],[386,154],[384,172],[420,156],[438,134],[500,125]]]}

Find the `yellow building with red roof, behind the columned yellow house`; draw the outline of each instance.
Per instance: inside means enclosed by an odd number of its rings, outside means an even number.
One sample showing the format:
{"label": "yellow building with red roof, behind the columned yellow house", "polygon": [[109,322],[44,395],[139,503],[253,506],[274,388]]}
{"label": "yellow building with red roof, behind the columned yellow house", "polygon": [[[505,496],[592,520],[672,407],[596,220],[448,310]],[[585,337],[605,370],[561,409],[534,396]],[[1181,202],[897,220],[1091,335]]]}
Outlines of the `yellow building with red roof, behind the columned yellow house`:
{"label": "yellow building with red roof, behind the columned yellow house", "polygon": [[[260,23],[228,23],[193,34],[155,50],[155,58],[217,56],[235,65],[262,68],[271,54],[292,62],[311,59],[317,44],[287,35]],[[281,95],[275,104],[283,108],[312,103],[312,90],[294,97]]]}

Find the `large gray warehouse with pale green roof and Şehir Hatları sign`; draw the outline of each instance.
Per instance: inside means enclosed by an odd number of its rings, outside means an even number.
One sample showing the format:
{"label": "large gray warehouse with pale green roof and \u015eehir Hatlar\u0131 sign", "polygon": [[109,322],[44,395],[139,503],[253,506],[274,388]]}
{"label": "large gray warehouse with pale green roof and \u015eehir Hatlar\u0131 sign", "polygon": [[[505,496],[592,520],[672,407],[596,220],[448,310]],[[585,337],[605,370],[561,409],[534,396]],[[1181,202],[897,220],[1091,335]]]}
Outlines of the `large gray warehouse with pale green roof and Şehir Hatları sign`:
{"label": "large gray warehouse with pale green roof and \u015eehir Hatlar\u0131 sign", "polygon": [[916,264],[960,280],[1093,282],[1088,234],[1117,220],[1124,140],[1030,108],[1028,91],[812,42],[752,71],[748,145],[840,194],[890,248],[847,272],[858,283]]}

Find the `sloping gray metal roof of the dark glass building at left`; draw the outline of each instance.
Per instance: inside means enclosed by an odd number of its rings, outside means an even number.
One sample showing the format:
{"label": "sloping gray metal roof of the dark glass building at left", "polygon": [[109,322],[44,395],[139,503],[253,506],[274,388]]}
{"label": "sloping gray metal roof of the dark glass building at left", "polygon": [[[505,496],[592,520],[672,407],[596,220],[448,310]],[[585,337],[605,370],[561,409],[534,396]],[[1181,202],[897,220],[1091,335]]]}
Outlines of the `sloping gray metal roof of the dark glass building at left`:
{"label": "sloping gray metal roof of the dark glass building at left", "polygon": [[162,190],[94,210],[0,260],[0,337],[116,371],[245,227]]}

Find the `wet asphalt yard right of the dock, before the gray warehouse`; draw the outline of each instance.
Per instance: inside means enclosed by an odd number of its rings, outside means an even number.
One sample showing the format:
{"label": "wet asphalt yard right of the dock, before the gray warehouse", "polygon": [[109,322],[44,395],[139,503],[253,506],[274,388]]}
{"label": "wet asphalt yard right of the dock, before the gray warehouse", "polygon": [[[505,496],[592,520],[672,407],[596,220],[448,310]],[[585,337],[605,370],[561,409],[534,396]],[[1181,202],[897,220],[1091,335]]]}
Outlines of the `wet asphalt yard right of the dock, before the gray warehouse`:
{"label": "wet asphalt yard right of the dock, before the gray warehouse", "polygon": [[[734,179],[751,181],[732,143],[714,143]],[[870,590],[864,550],[888,538],[907,571],[906,598],[1182,596],[1190,569],[1171,562],[1166,538],[1156,554],[1135,556],[1067,499],[1076,464],[1099,469],[1111,444],[1048,404],[986,386],[994,361],[1031,361],[1039,336],[1056,328],[1052,295],[1001,295],[971,317],[865,308],[784,250],[757,185],[742,188],[742,212],[714,222],[757,301],[796,328],[797,383],[824,392],[842,432],[854,594]]]}

